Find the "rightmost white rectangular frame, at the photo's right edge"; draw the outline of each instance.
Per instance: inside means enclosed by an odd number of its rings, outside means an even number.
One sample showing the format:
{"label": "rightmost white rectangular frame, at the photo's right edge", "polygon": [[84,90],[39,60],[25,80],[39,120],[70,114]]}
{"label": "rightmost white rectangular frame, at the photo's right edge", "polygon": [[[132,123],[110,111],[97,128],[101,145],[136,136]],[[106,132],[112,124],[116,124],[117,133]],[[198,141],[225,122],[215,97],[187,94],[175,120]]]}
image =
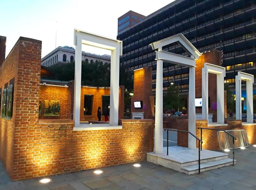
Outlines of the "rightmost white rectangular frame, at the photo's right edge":
{"label": "rightmost white rectangular frame, at the photo's right edge", "polygon": [[236,119],[242,120],[242,89],[241,80],[246,80],[246,119],[247,123],[253,123],[253,87],[254,75],[238,71],[236,75]]}

